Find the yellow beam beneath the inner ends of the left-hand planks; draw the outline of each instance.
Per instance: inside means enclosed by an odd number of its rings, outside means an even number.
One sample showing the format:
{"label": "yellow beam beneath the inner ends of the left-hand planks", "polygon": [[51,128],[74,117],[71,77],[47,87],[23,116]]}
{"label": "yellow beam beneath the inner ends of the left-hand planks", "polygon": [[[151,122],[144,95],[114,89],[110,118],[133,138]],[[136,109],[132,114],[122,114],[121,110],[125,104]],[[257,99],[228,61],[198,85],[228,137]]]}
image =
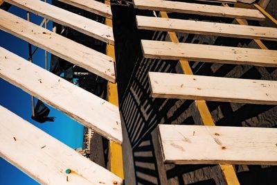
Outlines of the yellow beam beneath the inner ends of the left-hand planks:
{"label": "yellow beam beneath the inner ends of the left-hand planks", "polygon": [[[105,1],[105,4],[109,6],[111,5],[109,1]],[[105,24],[112,27],[112,20],[106,18]],[[113,45],[107,44],[106,54],[111,58],[114,58],[114,61],[116,61]],[[118,106],[118,91],[116,83],[107,83],[107,100],[109,103]],[[109,142],[109,170],[118,177],[124,179],[122,146],[114,141]]]}

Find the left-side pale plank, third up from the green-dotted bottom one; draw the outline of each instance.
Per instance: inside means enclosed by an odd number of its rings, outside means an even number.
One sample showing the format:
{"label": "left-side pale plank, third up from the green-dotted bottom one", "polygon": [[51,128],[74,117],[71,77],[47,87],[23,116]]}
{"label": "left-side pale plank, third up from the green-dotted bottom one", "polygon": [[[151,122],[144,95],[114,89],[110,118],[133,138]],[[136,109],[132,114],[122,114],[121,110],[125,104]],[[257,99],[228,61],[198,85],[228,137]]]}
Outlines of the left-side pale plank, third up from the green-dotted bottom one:
{"label": "left-side pale plank, third up from the green-dotted bottom one", "polygon": [[0,29],[30,42],[64,60],[115,82],[113,59],[45,28],[0,10]]}

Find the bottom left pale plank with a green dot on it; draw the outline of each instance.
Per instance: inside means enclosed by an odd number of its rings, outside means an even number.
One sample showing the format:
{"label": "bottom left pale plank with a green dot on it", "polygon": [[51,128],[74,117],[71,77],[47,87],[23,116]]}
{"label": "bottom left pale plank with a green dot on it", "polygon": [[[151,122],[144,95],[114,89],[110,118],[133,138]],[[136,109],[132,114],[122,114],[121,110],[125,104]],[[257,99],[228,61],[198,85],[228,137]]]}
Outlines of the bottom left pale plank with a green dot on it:
{"label": "bottom left pale plank with a green dot on it", "polygon": [[[123,184],[109,170],[2,106],[0,118],[0,156],[40,184]],[[71,173],[66,174],[67,169]]]}

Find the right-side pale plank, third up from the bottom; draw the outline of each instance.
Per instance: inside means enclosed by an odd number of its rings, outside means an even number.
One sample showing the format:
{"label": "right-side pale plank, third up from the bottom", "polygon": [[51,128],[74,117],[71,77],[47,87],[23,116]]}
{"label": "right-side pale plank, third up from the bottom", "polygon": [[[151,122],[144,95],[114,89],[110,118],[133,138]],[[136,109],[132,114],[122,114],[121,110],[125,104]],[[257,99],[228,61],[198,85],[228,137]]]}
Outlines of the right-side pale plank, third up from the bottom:
{"label": "right-side pale plank, third up from the bottom", "polygon": [[141,40],[145,58],[277,67],[277,51]]}

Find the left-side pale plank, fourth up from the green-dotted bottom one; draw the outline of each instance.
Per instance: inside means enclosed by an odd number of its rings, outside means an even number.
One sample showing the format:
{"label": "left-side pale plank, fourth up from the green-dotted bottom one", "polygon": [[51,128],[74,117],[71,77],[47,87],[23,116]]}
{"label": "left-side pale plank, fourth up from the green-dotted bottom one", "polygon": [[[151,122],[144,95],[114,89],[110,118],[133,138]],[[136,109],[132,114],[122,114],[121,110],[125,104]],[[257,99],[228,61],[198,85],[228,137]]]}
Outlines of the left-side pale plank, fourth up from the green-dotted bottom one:
{"label": "left-side pale plank, fourth up from the green-dotted bottom one", "polygon": [[69,12],[57,6],[44,3],[38,0],[4,0],[12,5],[18,6],[24,10],[34,12],[37,15],[51,19],[52,21],[69,26],[75,30],[80,31],[96,39],[100,39],[102,42],[114,44],[114,35],[112,28],[101,24],[97,21],[93,21],[86,17],[82,17],[73,12]]}

